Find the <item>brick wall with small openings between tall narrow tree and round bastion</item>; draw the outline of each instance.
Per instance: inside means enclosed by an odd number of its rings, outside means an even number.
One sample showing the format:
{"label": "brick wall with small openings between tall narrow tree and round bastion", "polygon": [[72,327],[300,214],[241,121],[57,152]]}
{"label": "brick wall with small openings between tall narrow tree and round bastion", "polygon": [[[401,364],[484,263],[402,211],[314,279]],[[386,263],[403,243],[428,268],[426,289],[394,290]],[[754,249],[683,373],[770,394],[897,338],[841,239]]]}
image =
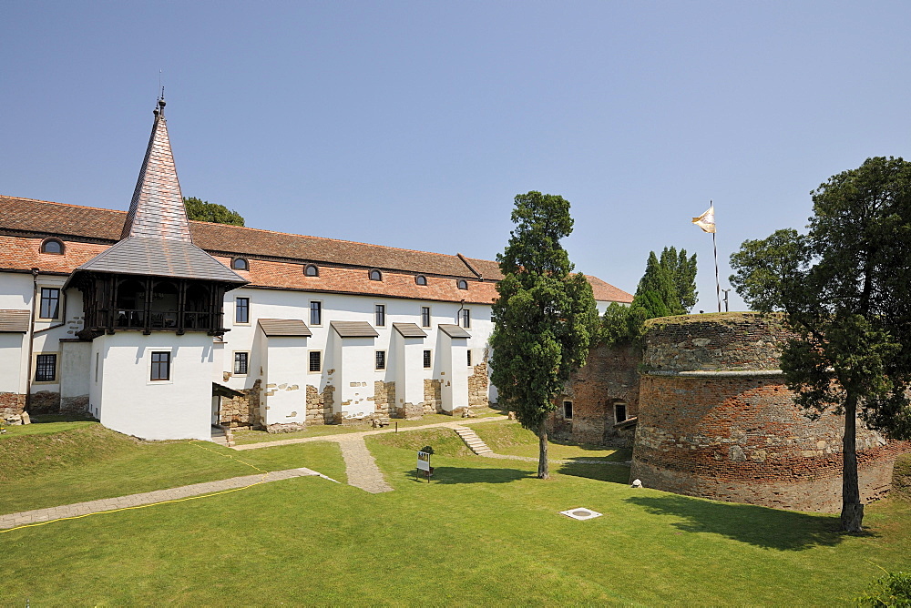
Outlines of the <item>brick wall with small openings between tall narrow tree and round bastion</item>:
{"label": "brick wall with small openings between tall narrow tree and round bastion", "polygon": [[[617,403],[626,406],[626,419],[639,411],[640,347],[604,346],[589,351],[585,365],[573,374],[548,418],[548,432],[578,443],[630,445],[630,433],[614,428]],[[572,401],[573,415],[564,417],[563,401]]]}

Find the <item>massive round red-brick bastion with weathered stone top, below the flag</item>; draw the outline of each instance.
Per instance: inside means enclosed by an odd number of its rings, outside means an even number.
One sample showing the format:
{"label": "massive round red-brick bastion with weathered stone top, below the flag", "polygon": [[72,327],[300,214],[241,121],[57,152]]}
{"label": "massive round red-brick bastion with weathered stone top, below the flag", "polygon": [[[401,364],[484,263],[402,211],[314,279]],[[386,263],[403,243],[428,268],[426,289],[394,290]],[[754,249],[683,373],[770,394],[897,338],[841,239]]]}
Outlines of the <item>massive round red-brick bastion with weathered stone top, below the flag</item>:
{"label": "massive round red-brick bastion with weathered stone top, below the flag", "polygon": [[[631,479],[658,490],[777,509],[841,509],[841,415],[794,404],[781,319],[722,313],[652,319]],[[861,497],[891,485],[908,444],[857,425]]]}

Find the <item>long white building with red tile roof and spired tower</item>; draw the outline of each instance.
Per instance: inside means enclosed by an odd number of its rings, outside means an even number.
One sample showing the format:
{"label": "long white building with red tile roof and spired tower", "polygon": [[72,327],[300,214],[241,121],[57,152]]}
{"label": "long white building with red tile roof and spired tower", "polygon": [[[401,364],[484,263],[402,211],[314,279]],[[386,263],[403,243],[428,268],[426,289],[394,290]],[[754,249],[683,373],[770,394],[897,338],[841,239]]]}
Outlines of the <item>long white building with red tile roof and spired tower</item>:
{"label": "long white building with red tile roof and spired tower", "polygon": [[[159,101],[128,212],[0,197],[0,416],[148,439],[496,400],[495,262],[188,221]],[[603,311],[630,294],[589,278]]]}

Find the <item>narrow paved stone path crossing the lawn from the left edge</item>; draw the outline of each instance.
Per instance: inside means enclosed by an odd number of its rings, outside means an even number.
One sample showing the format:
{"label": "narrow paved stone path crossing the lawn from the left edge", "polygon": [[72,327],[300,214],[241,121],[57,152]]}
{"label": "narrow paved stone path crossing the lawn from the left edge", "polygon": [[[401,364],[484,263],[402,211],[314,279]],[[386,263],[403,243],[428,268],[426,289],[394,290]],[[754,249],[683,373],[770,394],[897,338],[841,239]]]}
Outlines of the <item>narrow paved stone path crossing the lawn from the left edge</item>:
{"label": "narrow paved stone path crossing the lawn from the left edge", "polygon": [[[60,507],[50,507],[48,509],[9,513],[7,515],[0,515],[0,530],[8,530],[9,528],[16,528],[30,523],[51,522],[62,518],[82,517],[97,512],[129,509],[131,507],[140,507],[156,502],[179,501],[181,499],[209,494],[211,492],[237,490],[257,483],[268,483],[269,481],[280,481],[291,479],[292,477],[308,476],[319,476],[323,479],[335,481],[322,473],[305,468],[257,473],[256,475],[232,477],[221,481],[194,483],[192,485],[171,488],[169,490],[146,491],[140,494],[118,496],[117,498],[105,498],[100,501],[77,502],[75,504],[65,504]],[[338,483],[338,481],[336,481],[336,483]]]}

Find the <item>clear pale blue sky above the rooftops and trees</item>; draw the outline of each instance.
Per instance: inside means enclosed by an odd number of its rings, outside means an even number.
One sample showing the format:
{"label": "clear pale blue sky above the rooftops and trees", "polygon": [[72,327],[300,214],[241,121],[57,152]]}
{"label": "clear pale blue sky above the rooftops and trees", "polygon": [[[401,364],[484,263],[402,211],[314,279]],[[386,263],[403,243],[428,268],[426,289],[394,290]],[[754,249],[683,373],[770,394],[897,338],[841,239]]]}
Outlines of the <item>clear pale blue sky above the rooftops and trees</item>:
{"label": "clear pale blue sky above the rooftops and trees", "polygon": [[[909,152],[906,2],[0,3],[0,193],[128,208],[159,69],[180,184],[254,228],[478,258],[560,194],[577,269],[630,292]],[[0,209],[2,213],[2,209]],[[732,294],[733,296],[733,294]],[[742,309],[732,298],[732,309]]]}

